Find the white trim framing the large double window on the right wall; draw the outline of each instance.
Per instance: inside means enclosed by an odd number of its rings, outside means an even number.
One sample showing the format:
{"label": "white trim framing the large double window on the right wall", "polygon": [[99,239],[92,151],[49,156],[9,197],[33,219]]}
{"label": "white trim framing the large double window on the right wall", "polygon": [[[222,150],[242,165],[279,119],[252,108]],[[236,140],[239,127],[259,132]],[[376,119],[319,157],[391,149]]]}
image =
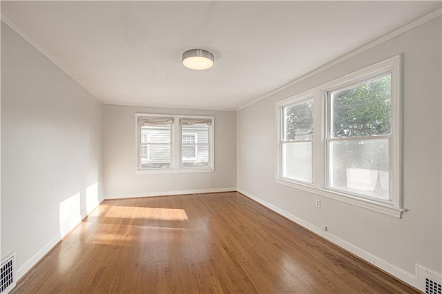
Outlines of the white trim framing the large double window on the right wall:
{"label": "white trim framing the large double window on the right wall", "polygon": [[[354,206],[363,207],[374,210],[378,213],[390,215],[392,217],[402,217],[405,211],[403,208],[402,191],[401,191],[401,63],[402,56],[397,55],[390,59],[378,62],[372,66],[368,66],[349,75],[345,75],[326,84],[307,90],[298,95],[289,97],[276,103],[276,182],[299,190],[305,190],[315,195],[336,199],[340,202],[352,204]],[[327,188],[327,93],[336,88],[351,86],[358,82],[365,81],[369,77],[378,77],[380,75],[391,72],[391,97],[392,97],[392,135],[390,141],[390,184],[392,185],[391,202],[375,201],[365,199],[342,191]],[[291,179],[281,177],[281,160],[282,150],[280,144],[280,136],[282,121],[282,107],[296,103],[308,97],[314,97],[314,139],[313,139],[313,184],[305,182],[297,182]]]}

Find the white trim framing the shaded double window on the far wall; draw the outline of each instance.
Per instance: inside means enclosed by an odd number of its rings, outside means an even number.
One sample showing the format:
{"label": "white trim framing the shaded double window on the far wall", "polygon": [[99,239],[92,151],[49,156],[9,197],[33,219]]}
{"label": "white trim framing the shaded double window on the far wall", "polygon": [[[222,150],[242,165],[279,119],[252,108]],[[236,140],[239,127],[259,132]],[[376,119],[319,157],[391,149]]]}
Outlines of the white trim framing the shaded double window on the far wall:
{"label": "white trim framing the shaded double window on the far wall", "polygon": [[[138,126],[139,117],[173,117],[173,124],[171,125],[171,168],[140,168],[140,126]],[[189,168],[182,167],[182,132],[180,126],[181,118],[189,119],[211,119],[209,126],[209,167],[204,168]],[[153,175],[153,174],[171,174],[171,173],[213,173],[215,171],[215,117],[200,116],[200,115],[158,115],[152,113],[135,113],[135,175]]]}

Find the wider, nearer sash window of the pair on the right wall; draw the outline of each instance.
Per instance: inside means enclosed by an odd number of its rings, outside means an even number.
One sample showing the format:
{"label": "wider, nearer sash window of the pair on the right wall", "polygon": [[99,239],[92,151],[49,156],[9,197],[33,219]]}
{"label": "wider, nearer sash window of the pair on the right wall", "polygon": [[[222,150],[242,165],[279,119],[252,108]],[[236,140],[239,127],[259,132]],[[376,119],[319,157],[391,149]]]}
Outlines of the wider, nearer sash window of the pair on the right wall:
{"label": "wider, nearer sash window of the pair on the right wall", "polygon": [[391,74],[329,91],[327,186],[390,199]]}

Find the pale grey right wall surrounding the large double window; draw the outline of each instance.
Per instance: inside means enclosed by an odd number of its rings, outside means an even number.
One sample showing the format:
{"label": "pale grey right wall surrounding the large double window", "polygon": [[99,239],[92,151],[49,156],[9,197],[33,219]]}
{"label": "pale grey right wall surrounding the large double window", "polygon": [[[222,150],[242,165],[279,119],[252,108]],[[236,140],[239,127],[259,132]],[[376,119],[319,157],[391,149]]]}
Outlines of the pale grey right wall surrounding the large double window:
{"label": "pale grey right wall surrounding the large double window", "polygon": [[[276,184],[275,103],[403,54],[402,219]],[[238,111],[238,190],[416,285],[442,272],[441,17]],[[315,208],[315,199],[321,208]],[[329,232],[318,228],[327,224]]]}

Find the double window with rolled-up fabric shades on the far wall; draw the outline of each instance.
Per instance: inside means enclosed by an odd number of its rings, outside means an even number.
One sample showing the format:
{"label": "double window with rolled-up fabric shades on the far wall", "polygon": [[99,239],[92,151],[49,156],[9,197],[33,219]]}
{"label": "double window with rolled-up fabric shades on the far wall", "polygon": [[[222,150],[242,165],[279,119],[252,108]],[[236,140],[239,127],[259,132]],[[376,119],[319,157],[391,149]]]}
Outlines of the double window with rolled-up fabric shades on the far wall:
{"label": "double window with rolled-up fabric shades on the far wall", "polygon": [[213,171],[213,117],[135,115],[135,172]]}

